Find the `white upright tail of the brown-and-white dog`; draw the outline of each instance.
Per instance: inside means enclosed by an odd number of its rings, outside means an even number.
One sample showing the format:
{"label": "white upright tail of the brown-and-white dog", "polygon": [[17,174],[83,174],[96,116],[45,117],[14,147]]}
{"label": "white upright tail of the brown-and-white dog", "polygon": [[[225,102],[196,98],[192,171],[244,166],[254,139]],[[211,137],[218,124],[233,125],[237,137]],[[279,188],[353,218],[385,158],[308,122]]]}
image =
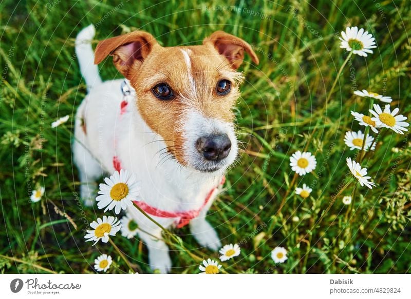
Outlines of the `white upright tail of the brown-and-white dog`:
{"label": "white upright tail of the brown-and-white dog", "polygon": [[96,34],[94,26],[91,24],[81,30],[76,37],[76,55],[80,64],[80,71],[87,84],[87,91],[101,84],[99,69],[94,64],[94,51],[91,48],[91,41]]}

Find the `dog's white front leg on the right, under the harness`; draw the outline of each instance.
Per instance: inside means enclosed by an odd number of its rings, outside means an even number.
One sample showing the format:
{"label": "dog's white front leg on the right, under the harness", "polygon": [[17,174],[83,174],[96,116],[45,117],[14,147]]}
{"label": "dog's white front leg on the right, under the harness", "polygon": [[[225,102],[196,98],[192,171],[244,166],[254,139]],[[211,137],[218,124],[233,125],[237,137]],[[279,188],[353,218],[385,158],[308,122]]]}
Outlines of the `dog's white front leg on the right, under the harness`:
{"label": "dog's white front leg on the right, under the harness", "polygon": [[200,214],[190,221],[190,230],[201,246],[207,246],[211,250],[217,251],[221,247],[220,238],[211,224],[206,220],[207,211],[212,202],[213,200],[210,200],[209,204],[201,210]]}

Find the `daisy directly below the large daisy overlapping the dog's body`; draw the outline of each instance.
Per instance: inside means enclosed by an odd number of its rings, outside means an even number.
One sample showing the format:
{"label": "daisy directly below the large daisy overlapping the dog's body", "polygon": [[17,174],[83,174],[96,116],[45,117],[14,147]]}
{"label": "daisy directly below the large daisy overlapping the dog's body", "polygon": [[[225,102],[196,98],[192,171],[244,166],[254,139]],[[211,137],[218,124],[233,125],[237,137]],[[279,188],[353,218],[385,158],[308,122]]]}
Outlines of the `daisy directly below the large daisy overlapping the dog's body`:
{"label": "daisy directly below the large daisy overlapping the dog's body", "polygon": [[103,220],[101,218],[97,218],[97,222],[93,221],[90,223],[91,228],[94,230],[87,230],[87,234],[84,236],[87,241],[96,241],[94,245],[101,239],[101,242],[107,243],[108,236],[115,236],[116,233],[120,230],[120,222],[117,220],[117,217],[113,216],[103,216]]}

